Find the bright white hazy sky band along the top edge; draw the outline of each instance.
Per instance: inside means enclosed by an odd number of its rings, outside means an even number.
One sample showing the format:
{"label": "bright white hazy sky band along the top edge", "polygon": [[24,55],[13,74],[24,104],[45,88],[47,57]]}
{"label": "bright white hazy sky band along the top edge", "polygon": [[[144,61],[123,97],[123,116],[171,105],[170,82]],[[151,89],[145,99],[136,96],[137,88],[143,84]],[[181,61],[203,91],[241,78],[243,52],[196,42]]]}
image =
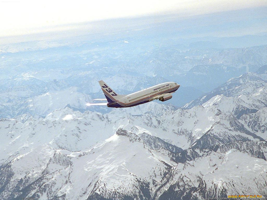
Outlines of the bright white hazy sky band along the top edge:
{"label": "bright white hazy sky band along the top edge", "polygon": [[267,6],[267,0],[1,0],[0,37],[69,29],[66,24],[147,15],[192,15]]}

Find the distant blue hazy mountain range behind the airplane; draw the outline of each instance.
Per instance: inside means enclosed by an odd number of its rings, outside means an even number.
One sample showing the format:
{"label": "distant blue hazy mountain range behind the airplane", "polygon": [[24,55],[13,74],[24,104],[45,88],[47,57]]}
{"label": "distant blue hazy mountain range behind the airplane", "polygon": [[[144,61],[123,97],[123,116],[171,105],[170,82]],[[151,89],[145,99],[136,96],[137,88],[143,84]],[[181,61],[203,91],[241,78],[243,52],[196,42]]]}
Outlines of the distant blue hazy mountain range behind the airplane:
{"label": "distant blue hazy mountain range behind the airplane", "polygon": [[175,81],[181,85],[177,97],[166,103],[181,107],[230,78],[257,72],[267,62],[266,45],[216,49],[209,41],[202,43],[206,48],[158,38],[153,42],[132,38],[125,43],[121,38],[2,45],[0,117],[30,114],[44,118],[66,106],[108,113],[111,109],[85,105],[104,97],[100,79],[120,94]]}

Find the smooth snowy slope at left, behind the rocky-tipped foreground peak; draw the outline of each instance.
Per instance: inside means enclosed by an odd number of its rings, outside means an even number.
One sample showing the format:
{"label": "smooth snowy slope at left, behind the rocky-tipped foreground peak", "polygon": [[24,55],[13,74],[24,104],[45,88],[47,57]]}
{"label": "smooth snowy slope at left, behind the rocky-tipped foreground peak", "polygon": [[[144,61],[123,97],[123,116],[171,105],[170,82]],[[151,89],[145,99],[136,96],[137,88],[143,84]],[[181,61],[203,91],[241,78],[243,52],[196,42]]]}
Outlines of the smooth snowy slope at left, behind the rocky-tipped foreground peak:
{"label": "smooth snowy slope at left, behind the rocky-tipped foreground peak", "polygon": [[[24,123],[1,119],[1,163],[7,158],[43,144],[56,149],[80,151],[113,135],[113,124],[99,113],[80,113],[66,107],[46,118],[30,117]],[[101,127],[101,129],[99,129]]]}

